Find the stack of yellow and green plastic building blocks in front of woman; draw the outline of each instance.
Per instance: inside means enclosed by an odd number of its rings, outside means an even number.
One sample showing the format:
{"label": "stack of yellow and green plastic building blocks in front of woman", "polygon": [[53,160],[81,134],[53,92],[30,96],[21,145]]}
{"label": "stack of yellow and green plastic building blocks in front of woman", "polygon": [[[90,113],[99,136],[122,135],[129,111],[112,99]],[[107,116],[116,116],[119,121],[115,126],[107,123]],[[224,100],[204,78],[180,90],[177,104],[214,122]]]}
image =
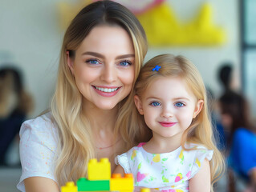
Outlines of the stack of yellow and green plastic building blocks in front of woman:
{"label": "stack of yellow and green plastic building blocks in front of woman", "polygon": [[111,177],[108,158],[101,158],[100,162],[92,158],[88,163],[87,178],[79,178],[76,185],[74,182],[67,182],[66,186],[61,187],[61,192],[104,190],[132,192],[134,189],[132,174],[125,174],[124,178],[120,174],[112,174]]}

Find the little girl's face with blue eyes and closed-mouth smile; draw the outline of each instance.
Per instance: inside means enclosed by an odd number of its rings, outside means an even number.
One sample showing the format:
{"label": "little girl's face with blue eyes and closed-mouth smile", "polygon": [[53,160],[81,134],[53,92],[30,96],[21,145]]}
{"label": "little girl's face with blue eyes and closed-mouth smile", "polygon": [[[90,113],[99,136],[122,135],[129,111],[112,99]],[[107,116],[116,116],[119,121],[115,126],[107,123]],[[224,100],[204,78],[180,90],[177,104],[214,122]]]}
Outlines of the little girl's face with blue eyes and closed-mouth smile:
{"label": "little girl's face with blue eyes and closed-mouth smile", "polygon": [[181,138],[203,106],[181,78],[172,77],[156,78],[135,103],[153,136],[161,138]]}

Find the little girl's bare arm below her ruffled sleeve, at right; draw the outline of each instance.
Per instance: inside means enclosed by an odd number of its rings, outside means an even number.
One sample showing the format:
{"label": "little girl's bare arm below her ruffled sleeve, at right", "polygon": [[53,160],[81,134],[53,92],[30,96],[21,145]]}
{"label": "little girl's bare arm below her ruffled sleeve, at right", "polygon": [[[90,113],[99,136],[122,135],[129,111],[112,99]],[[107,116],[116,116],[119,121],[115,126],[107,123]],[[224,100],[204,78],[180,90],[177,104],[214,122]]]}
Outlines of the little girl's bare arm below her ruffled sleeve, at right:
{"label": "little girl's bare arm below her ruffled sleeve, at right", "polygon": [[209,192],[211,189],[211,178],[209,161],[205,159],[202,163],[201,170],[189,180],[189,192]]}

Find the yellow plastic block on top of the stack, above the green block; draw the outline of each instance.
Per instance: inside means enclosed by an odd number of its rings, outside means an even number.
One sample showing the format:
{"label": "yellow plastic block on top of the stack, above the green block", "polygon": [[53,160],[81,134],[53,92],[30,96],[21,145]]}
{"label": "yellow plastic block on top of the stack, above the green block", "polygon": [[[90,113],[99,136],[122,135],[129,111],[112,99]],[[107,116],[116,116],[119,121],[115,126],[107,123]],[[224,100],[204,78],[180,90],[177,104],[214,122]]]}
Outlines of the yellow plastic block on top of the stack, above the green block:
{"label": "yellow plastic block on top of the stack, above the green block", "polygon": [[87,169],[88,180],[109,180],[111,178],[111,168],[108,158],[101,158],[97,162],[96,158],[92,158],[88,162]]}

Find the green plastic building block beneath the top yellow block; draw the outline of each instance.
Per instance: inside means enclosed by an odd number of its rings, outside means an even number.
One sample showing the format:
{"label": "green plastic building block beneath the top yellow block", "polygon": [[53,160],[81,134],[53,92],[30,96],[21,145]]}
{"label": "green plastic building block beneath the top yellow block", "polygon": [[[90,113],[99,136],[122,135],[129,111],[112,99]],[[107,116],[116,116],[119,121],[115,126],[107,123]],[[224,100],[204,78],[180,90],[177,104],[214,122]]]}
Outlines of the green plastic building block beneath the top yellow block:
{"label": "green plastic building block beneath the top yellow block", "polygon": [[109,190],[109,180],[89,181],[87,178],[79,178],[76,185],[78,191]]}

